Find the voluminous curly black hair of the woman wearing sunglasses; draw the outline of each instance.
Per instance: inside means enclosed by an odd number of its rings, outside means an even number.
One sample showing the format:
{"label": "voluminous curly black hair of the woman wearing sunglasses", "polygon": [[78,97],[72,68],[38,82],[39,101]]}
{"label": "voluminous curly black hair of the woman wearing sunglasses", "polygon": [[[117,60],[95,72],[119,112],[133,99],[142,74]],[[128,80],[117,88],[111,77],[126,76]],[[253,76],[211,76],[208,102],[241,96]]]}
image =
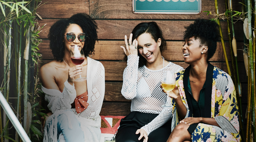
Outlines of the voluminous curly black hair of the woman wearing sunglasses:
{"label": "voluminous curly black hair of the woman wearing sunglasses", "polygon": [[84,56],[91,55],[94,52],[95,42],[98,41],[97,24],[85,13],[78,13],[71,16],[69,19],[61,19],[54,23],[48,34],[50,40],[50,49],[55,59],[63,61],[64,57],[64,38],[65,32],[70,24],[77,24],[82,28],[83,33],[86,33],[87,38],[84,41],[83,52]]}

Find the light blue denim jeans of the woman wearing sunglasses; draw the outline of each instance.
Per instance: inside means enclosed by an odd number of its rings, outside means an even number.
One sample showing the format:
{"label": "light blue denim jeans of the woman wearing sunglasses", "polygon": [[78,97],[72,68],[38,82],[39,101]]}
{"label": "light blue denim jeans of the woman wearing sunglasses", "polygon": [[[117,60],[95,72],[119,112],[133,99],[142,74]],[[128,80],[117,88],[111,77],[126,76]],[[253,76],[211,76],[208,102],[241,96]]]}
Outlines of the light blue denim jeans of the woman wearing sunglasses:
{"label": "light blue denim jeans of the woman wearing sunglasses", "polygon": [[[72,125],[72,129],[68,127],[68,117],[70,118],[70,122]],[[58,138],[61,133],[66,140],[66,142],[84,142],[84,133],[80,127],[80,122],[76,119],[75,114],[71,110],[65,111],[65,114],[61,114],[57,117],[57,133]]]}

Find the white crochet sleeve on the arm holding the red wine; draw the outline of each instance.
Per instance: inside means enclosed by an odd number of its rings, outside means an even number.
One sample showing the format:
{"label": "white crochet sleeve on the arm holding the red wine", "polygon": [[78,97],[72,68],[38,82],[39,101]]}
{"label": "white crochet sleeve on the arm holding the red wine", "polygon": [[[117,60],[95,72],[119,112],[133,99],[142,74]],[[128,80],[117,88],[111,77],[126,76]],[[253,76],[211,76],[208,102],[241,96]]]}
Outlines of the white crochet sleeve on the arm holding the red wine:
{"label": "white crochet sleeve on the arm holding the red wine", "polygon": [[62,93],[57,92],[59,90],[46,89],[42,87],[42,91],[46,93],[45,100],[49,102],[47,107],[49,108],[49,110],[52,111],[52,113],[57,110],[71,109],[71,103],[73,103],[74,99],[76,98],[77,93],[74,84],[73,86],[70,85],[67,80],[66,82],[64,82],[64,85],[65,87]]}

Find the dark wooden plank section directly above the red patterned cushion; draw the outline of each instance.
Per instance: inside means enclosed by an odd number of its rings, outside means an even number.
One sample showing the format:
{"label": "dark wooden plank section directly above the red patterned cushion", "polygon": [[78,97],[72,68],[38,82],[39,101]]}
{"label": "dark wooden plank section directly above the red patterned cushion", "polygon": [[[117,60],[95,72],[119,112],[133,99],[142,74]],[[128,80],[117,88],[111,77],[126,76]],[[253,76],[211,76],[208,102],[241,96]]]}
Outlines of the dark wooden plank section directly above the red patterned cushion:
{"label": "dark wooden plank section directly above the red patterned cushion", "polygon": [[131,112],[131,103],[103,102],[100,115],[126,116]]}

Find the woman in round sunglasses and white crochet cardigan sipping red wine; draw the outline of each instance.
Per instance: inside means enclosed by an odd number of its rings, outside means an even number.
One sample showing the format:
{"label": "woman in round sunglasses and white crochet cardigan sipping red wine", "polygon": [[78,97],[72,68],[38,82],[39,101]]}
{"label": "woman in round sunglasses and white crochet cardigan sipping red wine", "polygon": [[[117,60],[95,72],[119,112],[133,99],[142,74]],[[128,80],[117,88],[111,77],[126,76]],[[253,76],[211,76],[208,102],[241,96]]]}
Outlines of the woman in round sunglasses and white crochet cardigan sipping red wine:
{"label": "woman in round sunglasses and white crochet cardigan sipping red wine", "polygon": [[[41,67],[40,76],[45,100],[53,113],[45,122],[46,141],[99,142],[99,115],[105,91],[103,65],[88,56],[98,40],[97,25],[87,14],[75,14],[51,26],[48,38],[54,60]],[[82,48],[81,65],[71,61],[71,48]],[[87,80],[77,82],[79,75]]]}

